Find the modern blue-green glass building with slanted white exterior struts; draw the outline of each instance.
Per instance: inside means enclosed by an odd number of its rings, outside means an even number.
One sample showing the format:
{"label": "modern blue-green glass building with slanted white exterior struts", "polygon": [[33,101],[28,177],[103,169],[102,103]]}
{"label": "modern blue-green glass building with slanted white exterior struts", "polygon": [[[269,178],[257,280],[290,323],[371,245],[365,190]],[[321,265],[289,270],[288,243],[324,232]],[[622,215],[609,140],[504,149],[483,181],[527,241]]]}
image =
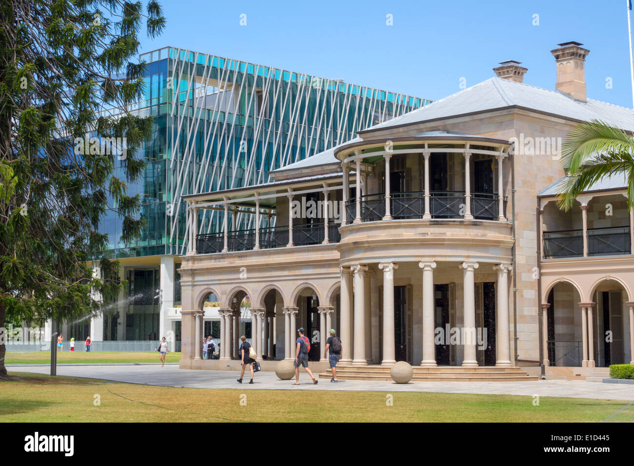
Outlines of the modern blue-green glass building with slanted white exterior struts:
{"label": "modern blue-green glass building with slanted white exterior struts", "polygon": [[[123,243],[119,217],[112,213],[103,221],[110,238],[104,254],[120,259],[120,275],[129,280],[129,288],[103,318],[92,321],[96,342],[155,340],[169,330],[179,340],[176,269],[189,233],[181,195],[266,183],[268,171],[429,103],[341,79],[179,48],[139,59],[148,63],[146,85],[133,111],[152,115],[155,125],[144,149],[145,176],[129,186],[129,193],[141,196],[146,226],[136,242]],[[198,233],[220,231],[222,216],[209,212],[201,212]],[[238,222],[246,228],[251,218],[238,217]]]}

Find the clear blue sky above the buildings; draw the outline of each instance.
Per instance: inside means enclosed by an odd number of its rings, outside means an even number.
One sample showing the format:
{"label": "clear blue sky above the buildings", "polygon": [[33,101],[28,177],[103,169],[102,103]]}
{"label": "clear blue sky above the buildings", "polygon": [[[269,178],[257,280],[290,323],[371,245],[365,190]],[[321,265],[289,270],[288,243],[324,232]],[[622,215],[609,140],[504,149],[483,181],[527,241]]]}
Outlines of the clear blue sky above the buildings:
{"label": "clear blue sky above the buildings", "polygon": [[504,60],[528,68],[527,84],[554,89],[550,50],[577,41],[590,49],[588,97],[632,107],[625,0],[163,0],[162,6],[167,28],[153,41],[144,36],[143,52],[169,45],[432,100],[459,91],[461,78],[472,86],[492,77]]}

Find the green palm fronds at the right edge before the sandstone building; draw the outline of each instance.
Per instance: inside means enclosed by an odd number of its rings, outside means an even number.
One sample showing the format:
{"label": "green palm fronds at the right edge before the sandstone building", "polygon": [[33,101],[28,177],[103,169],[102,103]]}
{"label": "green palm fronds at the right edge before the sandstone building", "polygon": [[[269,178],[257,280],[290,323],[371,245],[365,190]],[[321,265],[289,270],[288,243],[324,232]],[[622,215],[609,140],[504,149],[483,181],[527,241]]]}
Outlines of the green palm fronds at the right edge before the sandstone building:
{"label": "green palm fronds at the right edge before the sandstone building", "polygon": [[571,131],[562,144],[562,167],[568,178],[557,197],[562,210],[573,207],[577,196],[605,176],[624,174],[628,210],[634,205],[634,138],[614,126],[592,120]]}

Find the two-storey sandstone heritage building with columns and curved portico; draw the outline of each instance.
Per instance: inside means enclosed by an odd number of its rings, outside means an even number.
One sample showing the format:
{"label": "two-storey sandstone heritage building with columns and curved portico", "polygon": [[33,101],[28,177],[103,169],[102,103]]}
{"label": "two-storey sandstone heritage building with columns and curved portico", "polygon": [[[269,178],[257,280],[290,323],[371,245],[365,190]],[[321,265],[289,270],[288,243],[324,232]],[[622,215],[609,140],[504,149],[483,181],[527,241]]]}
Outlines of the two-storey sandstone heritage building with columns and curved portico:
{"label": "two-storey sandstone heritage building with columns and curved portico", "polygon": [[[631,109],[586,97],[581,45],[552,50],[556,90],[524,84],[527,68],[506,61],[496,77],[271,171],[273,181],[184,196],[188,231],[203,210],[222,224],[190,233],[182,257],[181,367],[231,365],[245,297],[259,356],[294,358],[304,327],[325,369],[321,336],[335,328],[351,377],[395,361],[419,375],[508,380],[539,365],[574,377],[630,363],[625,179],[600,181],[569,212],[555,202],[561,142],[579,122],[634,131]],[[237,216],[253,228],[231,230]],[[220,303],[219,361],[201,359],[209,299]]]}

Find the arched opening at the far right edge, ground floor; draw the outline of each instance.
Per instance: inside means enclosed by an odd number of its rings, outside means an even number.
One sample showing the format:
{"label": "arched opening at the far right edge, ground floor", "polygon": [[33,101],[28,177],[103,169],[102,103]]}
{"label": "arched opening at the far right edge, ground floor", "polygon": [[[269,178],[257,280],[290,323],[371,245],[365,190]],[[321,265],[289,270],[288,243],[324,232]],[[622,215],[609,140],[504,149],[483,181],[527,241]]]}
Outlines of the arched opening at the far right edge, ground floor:
{"label": "arched opening at the far right edge, ground floor", "polygon": [[607,367],[631,361],[627,291],[617,280],[603,280],[593,290],[592,301],[595,303],[590,310],[595,365]]}

